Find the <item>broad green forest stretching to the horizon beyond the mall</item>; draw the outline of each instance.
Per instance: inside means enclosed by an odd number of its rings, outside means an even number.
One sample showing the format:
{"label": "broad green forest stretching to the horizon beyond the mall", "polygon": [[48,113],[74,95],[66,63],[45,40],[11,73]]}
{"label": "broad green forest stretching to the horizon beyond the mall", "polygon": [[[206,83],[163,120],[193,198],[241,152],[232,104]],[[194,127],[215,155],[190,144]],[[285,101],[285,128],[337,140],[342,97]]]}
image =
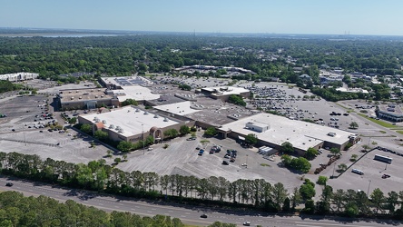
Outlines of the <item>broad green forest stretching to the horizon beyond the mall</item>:
{"label": "broad green forest stretching to the horizon beyond the mall", "polygon": [[[290,59],[295,59],[290,64]],[[169,73],[192,64],[244,67],[251,79],[280,77],[295,83],[293,66],[322,64],[346,72],[401,74],[403,43],[395,39],[118,35],[0,37],[0,74]],[[307,69],[307,73],[311,69]]]}

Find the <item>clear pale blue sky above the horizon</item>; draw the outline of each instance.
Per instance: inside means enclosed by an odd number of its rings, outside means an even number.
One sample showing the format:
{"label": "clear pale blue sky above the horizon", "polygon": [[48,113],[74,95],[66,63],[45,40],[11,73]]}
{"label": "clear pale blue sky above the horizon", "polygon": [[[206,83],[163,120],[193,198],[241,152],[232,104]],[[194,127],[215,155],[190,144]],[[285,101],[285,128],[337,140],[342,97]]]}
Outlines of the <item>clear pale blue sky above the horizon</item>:
{"label": "clear pale blue sky above the horizon", "polygon": [[0,27],[403,35],[403,0],[0,0]]}

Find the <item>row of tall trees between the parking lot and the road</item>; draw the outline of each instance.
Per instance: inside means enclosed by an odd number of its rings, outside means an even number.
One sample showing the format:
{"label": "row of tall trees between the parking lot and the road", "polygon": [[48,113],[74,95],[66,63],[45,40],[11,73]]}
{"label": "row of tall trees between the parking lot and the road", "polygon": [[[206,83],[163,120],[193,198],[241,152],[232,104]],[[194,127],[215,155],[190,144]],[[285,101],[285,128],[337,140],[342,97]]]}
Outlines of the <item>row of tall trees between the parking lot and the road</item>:
{"label": "row of tall trees between the parking lot and the road", "polygon": [[325,186],[319,201],[314,202],[315,183],[309,180],[289,192],[282,183],[264,179],[230,182],[221,176],[199,179],[178,174],[129,173],[105,164],[103,159],[88,164],[66,163],[21,153],[0,153],[0,167],[3,174],[34,181],[152,200],[263,212],[294,212],[304,204],[302,212],[308,213],[351,217],[388,214],[389,218],[403,219],[403,191],[385,194],[375,189],[370,195],[354,190],[334,192],[326,181],[321,181]]}

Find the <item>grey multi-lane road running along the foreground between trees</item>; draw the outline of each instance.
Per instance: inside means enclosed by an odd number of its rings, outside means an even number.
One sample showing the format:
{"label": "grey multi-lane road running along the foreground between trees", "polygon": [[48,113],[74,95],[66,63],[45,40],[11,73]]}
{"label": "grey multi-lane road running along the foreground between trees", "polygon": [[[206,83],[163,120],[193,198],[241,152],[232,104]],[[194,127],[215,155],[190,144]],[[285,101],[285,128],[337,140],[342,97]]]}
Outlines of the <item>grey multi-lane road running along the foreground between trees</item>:
{"label": "grey multi-lane road running along the foreground between trees", "polygon": [[[13,187],[6,187],[5,183],[14,183]],[[169,215],[177,217],[182,222],[192,225],[206,226],[212,222],[229,222],[235,223],[239,226],[243,222],[251,222],[251,226],[300,226],[300,227],[374,227],[374,226],[397,226],[401,222],[389,221],[369,221],[357,222],[350,219],[337,218],[335,220],[323,220],[323,217],[309,217],[301,218],[300,216],[278,216],[278,215],[259,215],[258,213],[251,212],[231,212],[211,210],[203,207],[191,207],[184,205],[170,204],[165,205],[160,202],[144,202],[139,200],[131,200],[125,197],[113,197],[96,192],[86,192],[80,190],[69,190],[59,188],[50,184],[33,183],[28,181],[20,181],[9,179],[5,176],[0,176],[0,190],[1,191],[15,191],[23,192],[26,196],[39,196],[44,195],[60,202],[73,200],[75,202],[83,203],[84,205],[97,207],[106,212],[134,212],[142,216],[154,216],[155,214]],[[206,219],[200,216],[207,214]]]}

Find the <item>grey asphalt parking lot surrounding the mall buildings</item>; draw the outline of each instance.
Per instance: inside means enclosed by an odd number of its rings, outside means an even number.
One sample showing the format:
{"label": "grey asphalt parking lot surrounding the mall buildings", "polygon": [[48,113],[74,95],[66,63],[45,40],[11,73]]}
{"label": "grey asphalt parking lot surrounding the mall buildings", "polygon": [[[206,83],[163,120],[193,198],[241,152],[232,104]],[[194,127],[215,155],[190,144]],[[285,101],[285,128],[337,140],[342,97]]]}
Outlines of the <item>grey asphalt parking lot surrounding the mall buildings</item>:
{"label": "grey asphalt parking lot surrounding the mall buildings", "polygon": [[[196,80],[195,78],[189,78],[186,80]],[[211,79],[198,79],[205,85],[221,85],[225,84],[226,80],[213,80]],[[222,81],[222,83],[220,83]],[[195,81],[195,83],[198,83]],[[72,86],[82,86],[69,85]],[[236,84],[240,86],[248,86],[251,83],[240,82]],[[276,86],[279,87],[286,97],[290,95],[298,96],[300,92],[294,88],[290,89],[286,84],[273,84],[273,83],[259,83],[256,86]],[[57,93],[57,89],[65,89],[67,87],[58,86],[49,90],[48,92]],[[173,93],[169,91],[167,93]],[[184,92],[183,92],[184,93]],[[311,95],[308,93],[308,95]],[[50,104],[53,96],[47,97],[44,95],[35,96],[21,96],[21,97],[6,97],[0,100],[0,113],[7,114],[7,117],[0,119],[0,145],[3,152],[17,152],[17,153],[30,153],[38,154],[42,158],[52,158],[54,160],[64,160],[71,163],[88,163],[92,160],[98,160],[104,158],[106,147],[102,145],[96,145],[95,148],[90,148],[90,143],[93,141],[91,138],[77,138],[74,139],[74,135],[79,135],[73,130],[68,130],[67,133],[48,132],[47,129],[34,128],[34,126],[41,123],[48,123],[53,120],[59,119],[60,124],[64,124],[61,118],[58,117],[60,113],[56,113],[54,118],[56,119],[43,119],[40,120],[42,114],[46,112],[53,114],[53,109],[49,106],[46,110],[46,101]],[[206,98],[207,99],[207,98]],[[209,99],[211,104],[206,104],[209,107],[213,106],[212,100]],[[352,101],[351,101],[352,102]],[[359,153],[362,150],[363,144],[369,146],[376,146],[376,144],[385,147],[391,147],[393,149],[401,149],[398,134],[389,133],[388,129],[382,129],[379,125],[370,123],[368,120],[361,118],[355,113],[346,114],[349,108],[354,109],[354,103],[341,103],[339,104],[326,102],[325,100],[289,100],[288,102],[276,102],[273,106],[281,107],[279,111],[284,114],[291,115],[291,113],[299,113],[303,118],[310,118],[313,120],[323,119],[323,127],[329,127],[329,123],[338,123],[339,129],[346,130],[352,133],[360,133],[363,135],[362,142],[356,144],[348,152],[342,152],[341,159],[336,163],[336,168],[329,166],[326,170],[318,175],[313,174],[313,170],[319,167],[320,163],[327,163],[329,161],[329,151],[323,151],[319,156],[311,161],[312,169],[307,174],[291,173],[288,169],[278,166],[280,163],[280,157],[274,157],[272,161],[263,158],[263,155],[258,153],[257,148],[243,148],[239,143],[235,143],[232,139],[216,139],[216,138],[203,138],[202,133],[198,132],[197,140],[186,141],[187,137],[176,138],[166,143],[159,143],[152,145],[151,151],[138,150],[128,154],[128,160],[124,163],[119,163],[117,168],[123,171],[133,172],[155,172],[161,175],[163,174],[183,174],[194,175],[198,178],[206,178],[210,176],[223,176],[230,181],[237,179],[265,179],[270,183],[283,183],[289,192],[296,186],[300,186],[303,182],[303,178],[309,178],[313,182],[316,182],[319,175],[326,175],[330,177],[334,170],[337,170],[339,163],[346,163],[349,165],[349,158],[351,154],[356,153],[361,156],[363,153]],[[347,108],[343,107],[346,106]],[[225,106],[222,104],[222,106]],[[234,111],[241,111],[241,107],[230,106]],[[241,108],[238,110],[238,108]],[[243,111],[243,109],[242,109]],[[249,110],[245,110],[249,111]],[[332,112],[338,115],[329,115]],[[84,111],[77,111],[77,114],[83,114]],[[301,114],[303,113],[303,114]],[[75,112],[68,112],[69,116],[73,116]],[[36,117],[36,116],[39,117]],[[330,120],[330,118],[339,118],[338,121]],[[36,120],[36,121],[35,121]],[[217,120],[217,119],[214,119]],[[211,120],[212,121],[212,120]],[[349,123],[355,121],[359,123],[359,129],[349,129]],[[31,126],[31,128],[29,128]],[[12,131],[15,129],[15,131]],[[40,133],[39,131],[43,131]],[[384,132],[383,132],[384,131]],[[331,132],[331,127],[329,127]],[[71,134],[69,136],[69,134]],[[393,137],[396,136],[396,137]],[[202,140],[208,140],[208,143],[202,144]],[[163,145],[168,144],[168,148],[164,149]],[[213,145],[221,145],[220,153],[209,153]],[[198,155],[199,150],[196,148],[202,148],[205,152],[202,155]],[[227,150],[238,151],[237,157],[234,163],[229,165],[223,165],[222,161],[230,161],[230,159],[224,158]],[[373,153],[367,154],[358,163],[355,163],[353,168],[361,169],[365,174],[358,175],[351,173],[350,170],[347,173],[342,174],[338,179],[329,180],[329,185],[335,189],[354,189],[354,190],[368,190],[379,187],[384,192],[391,190],[397,190],[402,183],[402,179],[398,177],[398,166],[403,163],[403,157],[397,156],[394,158],[392,164],[387,166],[384,163],[379,163],[373,160]],[[107,163],[113,163],[115,157],[121,157],[121,155],[113,155],[113,158],[105,158]],[[382,179],[381,176],[384,173],[391,175],[388,179]],[[369,180],[371,182],[369,182]],[[385,183],[388,182],[388,183]],[[370,184],[370,185],[369,185]],[[317,186],[317,195],[320,193],[320,186]],[[371,190],[369,190],[371,191]]]}

